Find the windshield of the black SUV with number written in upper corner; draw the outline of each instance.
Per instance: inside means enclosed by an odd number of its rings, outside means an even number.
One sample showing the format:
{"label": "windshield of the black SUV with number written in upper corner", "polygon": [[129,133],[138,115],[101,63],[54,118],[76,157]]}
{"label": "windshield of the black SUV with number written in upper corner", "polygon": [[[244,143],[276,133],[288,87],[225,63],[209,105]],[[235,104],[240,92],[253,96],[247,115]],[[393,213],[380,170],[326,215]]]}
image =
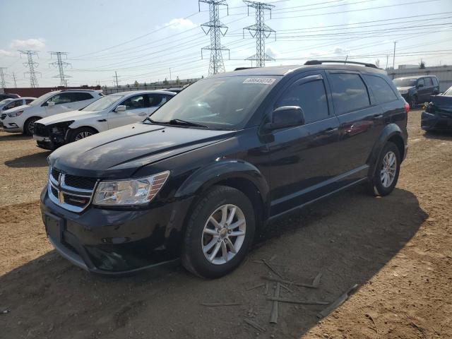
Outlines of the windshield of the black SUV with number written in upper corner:
{"label": "windshield of the black SUV with number written in upper corner", "polygon": [[229,76],[200,80],[157,109],[157,123],[184,120],[210,129],[242,129],[278,76]]}

